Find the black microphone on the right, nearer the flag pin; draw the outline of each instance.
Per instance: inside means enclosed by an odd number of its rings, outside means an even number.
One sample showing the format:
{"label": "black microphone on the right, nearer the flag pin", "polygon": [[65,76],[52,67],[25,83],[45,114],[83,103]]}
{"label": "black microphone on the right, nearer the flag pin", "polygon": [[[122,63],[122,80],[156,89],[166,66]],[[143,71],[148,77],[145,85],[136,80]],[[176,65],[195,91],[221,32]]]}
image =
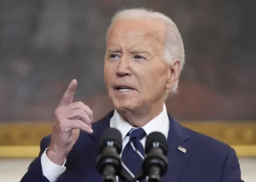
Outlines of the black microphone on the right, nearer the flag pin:
{"label": "black microphone on the right, nearer the flag pin", "polygon": [[165,135],[161,132],[151,132],[146,138],[146,158],[142,165],[143,174],[148,176],[148,182],[160,181],[161,177],[167,172],[167,152],[168,147]]}

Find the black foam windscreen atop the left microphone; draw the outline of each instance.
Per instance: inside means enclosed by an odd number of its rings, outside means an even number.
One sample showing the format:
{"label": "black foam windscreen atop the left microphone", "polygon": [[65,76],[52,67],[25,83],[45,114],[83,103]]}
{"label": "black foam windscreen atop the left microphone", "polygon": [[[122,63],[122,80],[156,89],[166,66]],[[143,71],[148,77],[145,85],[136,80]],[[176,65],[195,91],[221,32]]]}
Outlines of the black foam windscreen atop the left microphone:
{"label": "black foam windscreen atop the left microphone", "polygon": [[108,127],[102,132],[102,137],[99,141],[99,152],[102,153],[105,146],[108,146],[108,142],[113,142],[118,154],[121,153],[122,137],[121,132],[116,128]]}

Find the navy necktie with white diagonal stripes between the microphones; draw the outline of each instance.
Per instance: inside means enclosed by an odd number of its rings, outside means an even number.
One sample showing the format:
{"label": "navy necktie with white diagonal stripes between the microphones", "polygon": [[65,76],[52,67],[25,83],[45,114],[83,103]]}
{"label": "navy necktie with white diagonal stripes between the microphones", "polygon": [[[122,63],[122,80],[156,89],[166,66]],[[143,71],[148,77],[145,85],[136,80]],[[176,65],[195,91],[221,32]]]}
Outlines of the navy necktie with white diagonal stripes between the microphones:
{"label": "navy necktie with white diagonal stripes between the microphones", "polygon": [[[132,178],[135,178],[141,171],[145,157],[145,151],[140,140],[146,136],[146,132],[143,128],[132,128],[127,135],[129,135],[129,142],[121,154],[122,166]],[[119,180],[119,182],[121,181]]]}

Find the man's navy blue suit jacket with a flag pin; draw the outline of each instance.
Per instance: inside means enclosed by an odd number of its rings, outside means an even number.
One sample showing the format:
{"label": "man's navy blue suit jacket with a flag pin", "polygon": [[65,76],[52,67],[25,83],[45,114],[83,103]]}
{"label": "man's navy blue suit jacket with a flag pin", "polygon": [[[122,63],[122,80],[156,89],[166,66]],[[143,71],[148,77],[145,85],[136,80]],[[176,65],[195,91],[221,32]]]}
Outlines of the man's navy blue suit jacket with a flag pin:
{"label": "man's navy blue suit jacket with a flag pin", "polygon": [[[77,143],[67,156],[67,170],[58,182],[99,182],[102,176],[96,169],[99,138],[110,127],[111,111],[92,127],[94,132],[81,131]],[[170,129],[167,143],[169,167],[161,181],[165,182],[241,182],[241,170],[236,152],[225,143],[181,126],[169,115]],[[21,182],[48,182],[42,175],[40,157],[50,144],[50,135],[40,143],[39,157],[29,166]],[[187,149],[186,153],[178,146]]]}

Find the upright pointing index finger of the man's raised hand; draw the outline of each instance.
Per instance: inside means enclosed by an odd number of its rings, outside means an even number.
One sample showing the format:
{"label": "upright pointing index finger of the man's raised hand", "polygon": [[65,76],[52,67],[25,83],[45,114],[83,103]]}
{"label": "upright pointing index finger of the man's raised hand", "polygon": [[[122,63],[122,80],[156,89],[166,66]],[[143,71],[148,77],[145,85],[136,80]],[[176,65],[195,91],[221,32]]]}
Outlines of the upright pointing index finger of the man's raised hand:
{"label": "upright pointing index finger of the man's raised hand", "polygon": [[68,105],[73,102],[75,90],[77,89],[77,87],[78,87],[78,82],[75,79],[73,79],[69,83],[67,90],[64,92],[64,95],[61,98],[61,103],[59,103],[59,106]]}

